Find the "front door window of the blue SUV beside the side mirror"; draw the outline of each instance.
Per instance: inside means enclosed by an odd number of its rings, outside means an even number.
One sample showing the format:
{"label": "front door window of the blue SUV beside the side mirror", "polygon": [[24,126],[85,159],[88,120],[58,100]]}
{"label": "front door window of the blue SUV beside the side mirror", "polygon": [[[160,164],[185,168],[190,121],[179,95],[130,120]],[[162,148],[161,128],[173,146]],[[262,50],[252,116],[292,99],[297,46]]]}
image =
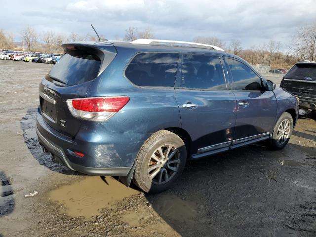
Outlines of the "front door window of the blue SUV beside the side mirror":
{"label": "front door window of the blue SUV beside the side mirror", "polygon": [[226,66],[233,77],[233,90],[261,90],[261,79],[247,65],[237,60],[226,58]]}

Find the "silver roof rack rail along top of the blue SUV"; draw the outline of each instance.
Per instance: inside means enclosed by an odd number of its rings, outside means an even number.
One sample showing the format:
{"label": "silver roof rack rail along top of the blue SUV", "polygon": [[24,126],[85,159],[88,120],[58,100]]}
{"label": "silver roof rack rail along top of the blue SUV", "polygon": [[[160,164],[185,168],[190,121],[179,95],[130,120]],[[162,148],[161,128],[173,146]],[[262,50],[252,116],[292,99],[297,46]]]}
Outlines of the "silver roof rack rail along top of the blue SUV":
{"label": "silver roof rack rail along top of the blue SUV", "polygon": [[188,42],[188,41],[138,39],[138,40],[131,41],[131,43],[134,43],[134,44],[156,44],[156,45],[162,44],[162,45],[169,45],[169,46],[197,47],[197,48],[208,48],[208,49],[216,49],[216,50],[225,51],[224,49],[217,47],[215,45]]}

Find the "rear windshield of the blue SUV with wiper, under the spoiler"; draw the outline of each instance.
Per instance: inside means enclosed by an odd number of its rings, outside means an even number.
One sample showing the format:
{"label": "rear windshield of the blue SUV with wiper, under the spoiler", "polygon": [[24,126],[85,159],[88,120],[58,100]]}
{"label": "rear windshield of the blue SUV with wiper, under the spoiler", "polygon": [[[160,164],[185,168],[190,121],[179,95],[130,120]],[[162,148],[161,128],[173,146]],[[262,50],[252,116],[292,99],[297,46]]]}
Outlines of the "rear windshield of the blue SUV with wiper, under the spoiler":
{"label": "rear windshield of the blue SUV with wiper, under the spoiler", "polygon": [[85,51],[70,51],[52,67],[49,77],[65,85],[77,85],[95,79],[100,65],[100,58],[94,54]]}

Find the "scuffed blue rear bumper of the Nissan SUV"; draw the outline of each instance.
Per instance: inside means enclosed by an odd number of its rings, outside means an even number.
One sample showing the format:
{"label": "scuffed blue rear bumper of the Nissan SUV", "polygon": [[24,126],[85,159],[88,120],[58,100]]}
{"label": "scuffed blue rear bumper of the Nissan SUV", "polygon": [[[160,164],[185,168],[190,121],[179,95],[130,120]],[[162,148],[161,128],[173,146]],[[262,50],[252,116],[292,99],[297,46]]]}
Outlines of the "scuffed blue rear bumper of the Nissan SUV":
{"label": "scuffed blue rear bumper of the Nissan SUV", "polygon": [[[138,151],[150,134],[104,132],[98,129],[80,129],[75,138],[50,127],[37,114],[36,132],[44,151],[53,161],[88,175],[126,176]],[[74,152],[84,154],[79,157]]]}

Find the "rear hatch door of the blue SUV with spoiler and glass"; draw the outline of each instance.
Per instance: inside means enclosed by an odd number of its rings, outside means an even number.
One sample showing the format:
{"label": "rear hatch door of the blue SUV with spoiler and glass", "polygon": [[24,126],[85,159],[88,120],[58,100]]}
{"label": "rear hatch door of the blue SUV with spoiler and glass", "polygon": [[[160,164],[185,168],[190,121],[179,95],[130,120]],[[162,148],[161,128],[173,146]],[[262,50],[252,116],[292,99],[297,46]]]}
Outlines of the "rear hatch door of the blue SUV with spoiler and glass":
{"label": "rear hatch door of the blue SUV with spoiler and glass", "polygon": [[58,132],[75,137],[81,119],[71,115],[66,100],[84,98],[95,79],[116,56],[109,43],[64,44],[60,58],[39,86],[42,118]]}

